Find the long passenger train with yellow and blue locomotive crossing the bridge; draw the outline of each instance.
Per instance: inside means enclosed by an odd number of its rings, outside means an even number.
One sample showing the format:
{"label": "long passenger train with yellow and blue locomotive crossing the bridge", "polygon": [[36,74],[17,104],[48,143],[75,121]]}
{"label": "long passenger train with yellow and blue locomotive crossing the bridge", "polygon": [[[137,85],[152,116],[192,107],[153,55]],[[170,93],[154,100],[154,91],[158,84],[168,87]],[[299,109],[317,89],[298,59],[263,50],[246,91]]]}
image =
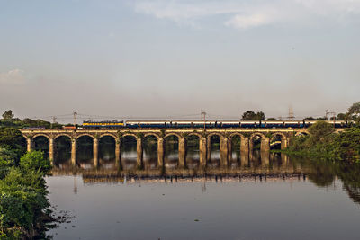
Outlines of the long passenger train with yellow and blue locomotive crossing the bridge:
{"label": "long passenger train with yellow and blue locomotive crossing the bridge", "polygon": [[[84,129],[289,129],[309,128],[316,120],[106,120],[83,122]],[[347,128],[355,122],[328,120],[335,128]]]}

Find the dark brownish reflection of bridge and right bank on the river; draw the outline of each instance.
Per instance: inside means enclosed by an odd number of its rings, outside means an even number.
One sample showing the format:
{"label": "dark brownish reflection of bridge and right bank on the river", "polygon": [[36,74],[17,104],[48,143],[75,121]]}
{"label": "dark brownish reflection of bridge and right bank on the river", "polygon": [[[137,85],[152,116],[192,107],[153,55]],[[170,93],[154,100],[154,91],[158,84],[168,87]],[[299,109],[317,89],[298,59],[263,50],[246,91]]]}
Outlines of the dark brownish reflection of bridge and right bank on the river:
{"label": "dark brownish reflection of bridge and right bank on the river", "polygon": [[189,141],[186,152],[186,167],[178,164],[178,140],[167,139],[165,165],[157,167],[157,140],[147,138],[144,145],[144,169],[137,168],[136,140],[130,139],[122,144],[121,164],[116,164],[112,138],[103,138],[100,141],[99,164],[94,166],[93,144],[91,138],[79,138],[77,147],[77,165],[74,167],[70,160],[70,143],[67,138],[58,138],[53,174],[83,174],[84,182],[116,182],[128,179],[162,179],[173,181],[183,179],[237,179],[237,178],[300,178],[309,179],[318,187],[329,187],[336,177],[343,182],[351,200],[360,203],[360,168],[349,164],[334,164],[323,161],[309,161],[302,159],[290,160],[284,154],[266,154],[260,150],[243,154],[239,148],[232,150],[229,165],[220,164],[219,146],[211,144],[211,157],[206,167],[199,163],[199,150],[196,139]]}

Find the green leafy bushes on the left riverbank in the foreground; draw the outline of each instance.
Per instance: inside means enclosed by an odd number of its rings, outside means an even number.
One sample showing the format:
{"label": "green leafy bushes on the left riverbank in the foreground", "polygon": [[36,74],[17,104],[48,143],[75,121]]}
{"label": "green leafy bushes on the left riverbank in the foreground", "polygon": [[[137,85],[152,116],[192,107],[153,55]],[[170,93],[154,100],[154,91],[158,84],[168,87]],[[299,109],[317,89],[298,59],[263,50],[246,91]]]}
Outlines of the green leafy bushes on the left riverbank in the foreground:
{"label": "green leafy bushes on the left riverbank in the foreground", "polygon": [[0,238],[29,238],[49,209],[43,178],[51,167],[49,159],[32,151],[16,164],[11,151],[0,147],[0,153]]}

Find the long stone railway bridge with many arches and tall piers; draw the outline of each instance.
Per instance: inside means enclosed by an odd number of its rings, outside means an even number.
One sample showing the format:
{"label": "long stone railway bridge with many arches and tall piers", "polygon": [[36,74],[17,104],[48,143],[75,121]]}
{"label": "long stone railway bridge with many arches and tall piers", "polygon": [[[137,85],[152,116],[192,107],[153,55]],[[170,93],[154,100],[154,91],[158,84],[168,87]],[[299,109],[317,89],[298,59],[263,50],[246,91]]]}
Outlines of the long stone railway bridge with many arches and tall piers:
{"label": "long stone railway bridge with many arches and tall piers", "polygon": [[179,165],[184,166],[186,159],[186,142],[191,136],[195,136],[199,141],[200,164],[207,164],[211,155],[211,137],[220,138],[220,163],[228,165],[232,155],[232,139],[238,136],[240,138],[239,148],[242,155],[251,159],[253,151],[253,140],[261,139],[260,150],[262,154],[267,155],[270,152],[270,142],[274,139],[281,141],[281,148],[288,146],[290,138],[298,134],[306,134],[307,129],[40,129],[21,130],[23,136],[27,139],[27,149],[30,151],[34,147],[34,139],[40,136],[49,139],[49,158],[54,159],[55,147],[54,141],[58,137],[67,137],[71,139],[71,161],[76,164],[76,141],[78,138],[88,136],[93,138],[94,165],[98,164],[99,139],[110,136],[115,140],[116,161],[120,162],[121,142],[124,137],[131,136],[137,142],[137,164],[143,164],[143,139],[148,136],[157,138],[157,165],[164,164],[165,142],[166,138],[175,136],[178,139]]}

